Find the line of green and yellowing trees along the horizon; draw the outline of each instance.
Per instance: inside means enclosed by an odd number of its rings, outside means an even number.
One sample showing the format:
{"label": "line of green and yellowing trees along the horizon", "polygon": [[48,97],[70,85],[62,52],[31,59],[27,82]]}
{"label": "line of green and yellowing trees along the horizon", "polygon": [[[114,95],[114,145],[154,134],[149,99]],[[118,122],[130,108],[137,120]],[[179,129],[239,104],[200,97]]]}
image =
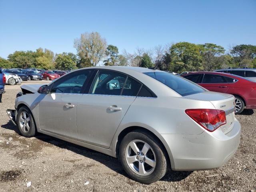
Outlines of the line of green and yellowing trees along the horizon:
{"label": "line of green and yellowing trees along the horizon", "polygon": [[256,68],[256,46],[241,44],[224,47],[213,44],[178,42],[158,45],[152,49],[136,48],[134,53],[107,44],[98,32],[81,34],[74,40],[77,54],[54,54],[51,50],[15,51],[7,59],[0,58],[2,68],[38,68],[45,70],[74,70],[96,66],[137,66],[181,73],[183,71],[212,71],[221,68]]}

